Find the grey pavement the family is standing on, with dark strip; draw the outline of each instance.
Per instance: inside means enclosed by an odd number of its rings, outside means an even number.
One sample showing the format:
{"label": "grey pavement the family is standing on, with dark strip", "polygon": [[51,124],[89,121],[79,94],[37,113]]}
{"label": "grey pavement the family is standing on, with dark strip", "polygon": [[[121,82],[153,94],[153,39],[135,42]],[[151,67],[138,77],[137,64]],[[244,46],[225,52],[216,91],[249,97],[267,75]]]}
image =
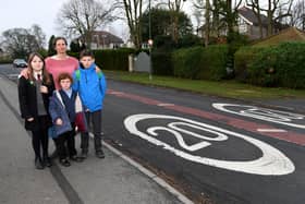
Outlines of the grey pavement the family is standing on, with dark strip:
{"label": "grey pavement the family is standing on, with dark strip", "polygon": [[[0,75],[0,203],[3,204],[180,204],[191,200],[160,177],[105,144],[84,163],[36,170],[29,133],[19,113],[16,84]],[[80,146],[80,136],[76,137]],[[50,152],[54,149],[49,143]],[[93,146],[93,141],[90,141]]]}

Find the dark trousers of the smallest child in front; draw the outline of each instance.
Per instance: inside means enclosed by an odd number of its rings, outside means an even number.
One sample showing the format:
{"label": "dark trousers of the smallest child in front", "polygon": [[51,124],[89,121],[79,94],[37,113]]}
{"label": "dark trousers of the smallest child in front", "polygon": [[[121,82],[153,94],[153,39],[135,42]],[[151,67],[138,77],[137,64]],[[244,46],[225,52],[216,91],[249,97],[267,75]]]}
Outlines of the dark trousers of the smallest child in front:
{"label": "dark trousers of the smallest child in front", "polygon": [[54,139],[58,156],[60,159],[77,154],[75,148],[75,125],[74,123],[71,123],[71,131],[60,134],[57,139]]}

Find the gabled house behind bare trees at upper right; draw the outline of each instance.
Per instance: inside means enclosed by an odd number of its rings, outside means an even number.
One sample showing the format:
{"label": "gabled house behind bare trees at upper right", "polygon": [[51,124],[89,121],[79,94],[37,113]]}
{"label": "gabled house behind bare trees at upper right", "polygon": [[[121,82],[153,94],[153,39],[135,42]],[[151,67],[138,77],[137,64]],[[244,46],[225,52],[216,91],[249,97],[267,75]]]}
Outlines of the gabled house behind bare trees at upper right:
{"label": "gabled house behind bare trees at upper right", "polygon": [[[266,15],[260,14],[260,20],[263,25],[263,38],[265,38],[267,37],[268,19]],[[286,26],[276,22],[273,32],[277,34],[283,28],[286,28]],[[249,39],[260,38],[258,19],[252,9],[246,7],[239,9],[237,31],[240,34],[248,36]]]}

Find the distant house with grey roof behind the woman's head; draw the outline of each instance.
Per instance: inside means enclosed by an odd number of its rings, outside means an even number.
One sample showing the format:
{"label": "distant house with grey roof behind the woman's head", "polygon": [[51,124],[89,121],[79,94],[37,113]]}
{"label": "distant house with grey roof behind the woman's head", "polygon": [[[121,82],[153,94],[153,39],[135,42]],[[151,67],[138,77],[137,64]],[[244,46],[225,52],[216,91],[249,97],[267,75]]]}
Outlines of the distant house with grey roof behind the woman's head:
{"label": "distant house with grey roof behind the woman's head", "polygon": [[[76,39],[82,43],[82,37]],[[122,47],[123,39],[105,31],[94,31],[91,33],[91,49],[115,49]]]}

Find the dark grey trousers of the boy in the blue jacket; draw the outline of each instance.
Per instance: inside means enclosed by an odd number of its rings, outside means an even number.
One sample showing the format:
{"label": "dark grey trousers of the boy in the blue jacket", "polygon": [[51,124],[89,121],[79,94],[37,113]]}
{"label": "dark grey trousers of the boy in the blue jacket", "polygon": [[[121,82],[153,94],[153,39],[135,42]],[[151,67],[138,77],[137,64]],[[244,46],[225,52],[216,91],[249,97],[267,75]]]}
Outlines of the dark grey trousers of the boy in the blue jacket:
{"label": "dark grey trousers of the boy in the blue jacket", "polygon": [[[93,124],[93,132],[95,136],[95,149],[96,152],[101,149],[101,110],[94,112],[85,112],[87,124]],[[84,132],[81,134],[81,148],[83,152],[88,152],[89,148],[89,133]]]}

